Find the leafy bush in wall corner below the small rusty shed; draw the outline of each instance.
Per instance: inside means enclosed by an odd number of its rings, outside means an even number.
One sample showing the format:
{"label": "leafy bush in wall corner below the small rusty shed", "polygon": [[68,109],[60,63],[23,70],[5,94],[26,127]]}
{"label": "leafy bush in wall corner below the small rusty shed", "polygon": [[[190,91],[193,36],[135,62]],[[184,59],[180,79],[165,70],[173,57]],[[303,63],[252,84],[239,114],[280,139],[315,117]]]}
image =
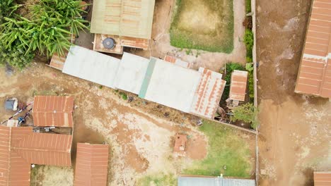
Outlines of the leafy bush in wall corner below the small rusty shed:
{"label": "leafy bush in wall corner below the small rusty shed", "polygon": [[231,116],[231,121],[242,120],[245,123],[250,123],[250,126],[254,129],[259,125],[257,120],[257,114],[259,109],[257,109],[253,104],[243,104],[237,106],[233,111],[233,116]]}

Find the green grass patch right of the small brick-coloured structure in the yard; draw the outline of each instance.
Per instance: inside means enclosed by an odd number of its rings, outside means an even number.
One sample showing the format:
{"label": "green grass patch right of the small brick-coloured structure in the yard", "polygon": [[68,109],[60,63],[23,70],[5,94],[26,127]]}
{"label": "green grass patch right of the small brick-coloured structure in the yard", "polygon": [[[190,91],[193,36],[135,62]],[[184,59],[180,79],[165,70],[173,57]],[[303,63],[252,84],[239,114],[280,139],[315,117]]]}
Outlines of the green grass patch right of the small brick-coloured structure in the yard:
{"label": "green grass patch right of the small brick-coloured structure in the yard", "polygon": [[[249,178],[252,171],[251,152],[238,131],[219,123],[204,120],[199,128],[208,137],[208,154],[202,161],[195,161],[182,174],[213,175]],[[224,169],[226,166],[226,169]]]}

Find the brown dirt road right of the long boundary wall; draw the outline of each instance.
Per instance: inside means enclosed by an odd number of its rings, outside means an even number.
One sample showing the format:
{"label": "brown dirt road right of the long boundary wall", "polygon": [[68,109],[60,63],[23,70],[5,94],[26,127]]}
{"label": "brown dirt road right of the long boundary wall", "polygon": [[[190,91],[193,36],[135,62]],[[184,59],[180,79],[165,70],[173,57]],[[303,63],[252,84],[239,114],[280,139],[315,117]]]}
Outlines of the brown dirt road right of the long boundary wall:
{"label": "brown dirt road right of the long boundary wall", "polygon": [[313,185],[331,170],[331,102],[294,93],[310,1],[257,1],[260,185]]}

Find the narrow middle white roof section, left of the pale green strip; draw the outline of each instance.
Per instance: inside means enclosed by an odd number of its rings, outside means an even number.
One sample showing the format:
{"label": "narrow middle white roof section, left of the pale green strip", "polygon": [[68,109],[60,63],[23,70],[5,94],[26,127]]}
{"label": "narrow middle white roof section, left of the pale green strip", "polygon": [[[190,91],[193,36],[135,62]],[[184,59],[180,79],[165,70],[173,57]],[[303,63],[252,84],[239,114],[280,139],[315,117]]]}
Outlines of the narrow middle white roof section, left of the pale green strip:
{"label": "narrow middle white roof section, left of the pale green strip", "polygon": [[124,52],[118,68],[115,87],[139,94],[149,66],[149,59]]}

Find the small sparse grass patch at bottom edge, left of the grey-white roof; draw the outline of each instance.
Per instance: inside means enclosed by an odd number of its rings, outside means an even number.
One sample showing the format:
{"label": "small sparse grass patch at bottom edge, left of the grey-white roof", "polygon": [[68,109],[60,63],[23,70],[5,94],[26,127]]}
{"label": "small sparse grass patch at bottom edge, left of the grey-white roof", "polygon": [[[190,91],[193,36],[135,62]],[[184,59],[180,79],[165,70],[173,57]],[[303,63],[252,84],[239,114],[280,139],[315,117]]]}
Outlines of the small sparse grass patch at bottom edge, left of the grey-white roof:
{"label": "small sparse grass patch at bottom edge, left of the grey-white roof", "polygon": [[177,185],[177,178],[173,174],[146,175],[137,181],[137,186]]}

